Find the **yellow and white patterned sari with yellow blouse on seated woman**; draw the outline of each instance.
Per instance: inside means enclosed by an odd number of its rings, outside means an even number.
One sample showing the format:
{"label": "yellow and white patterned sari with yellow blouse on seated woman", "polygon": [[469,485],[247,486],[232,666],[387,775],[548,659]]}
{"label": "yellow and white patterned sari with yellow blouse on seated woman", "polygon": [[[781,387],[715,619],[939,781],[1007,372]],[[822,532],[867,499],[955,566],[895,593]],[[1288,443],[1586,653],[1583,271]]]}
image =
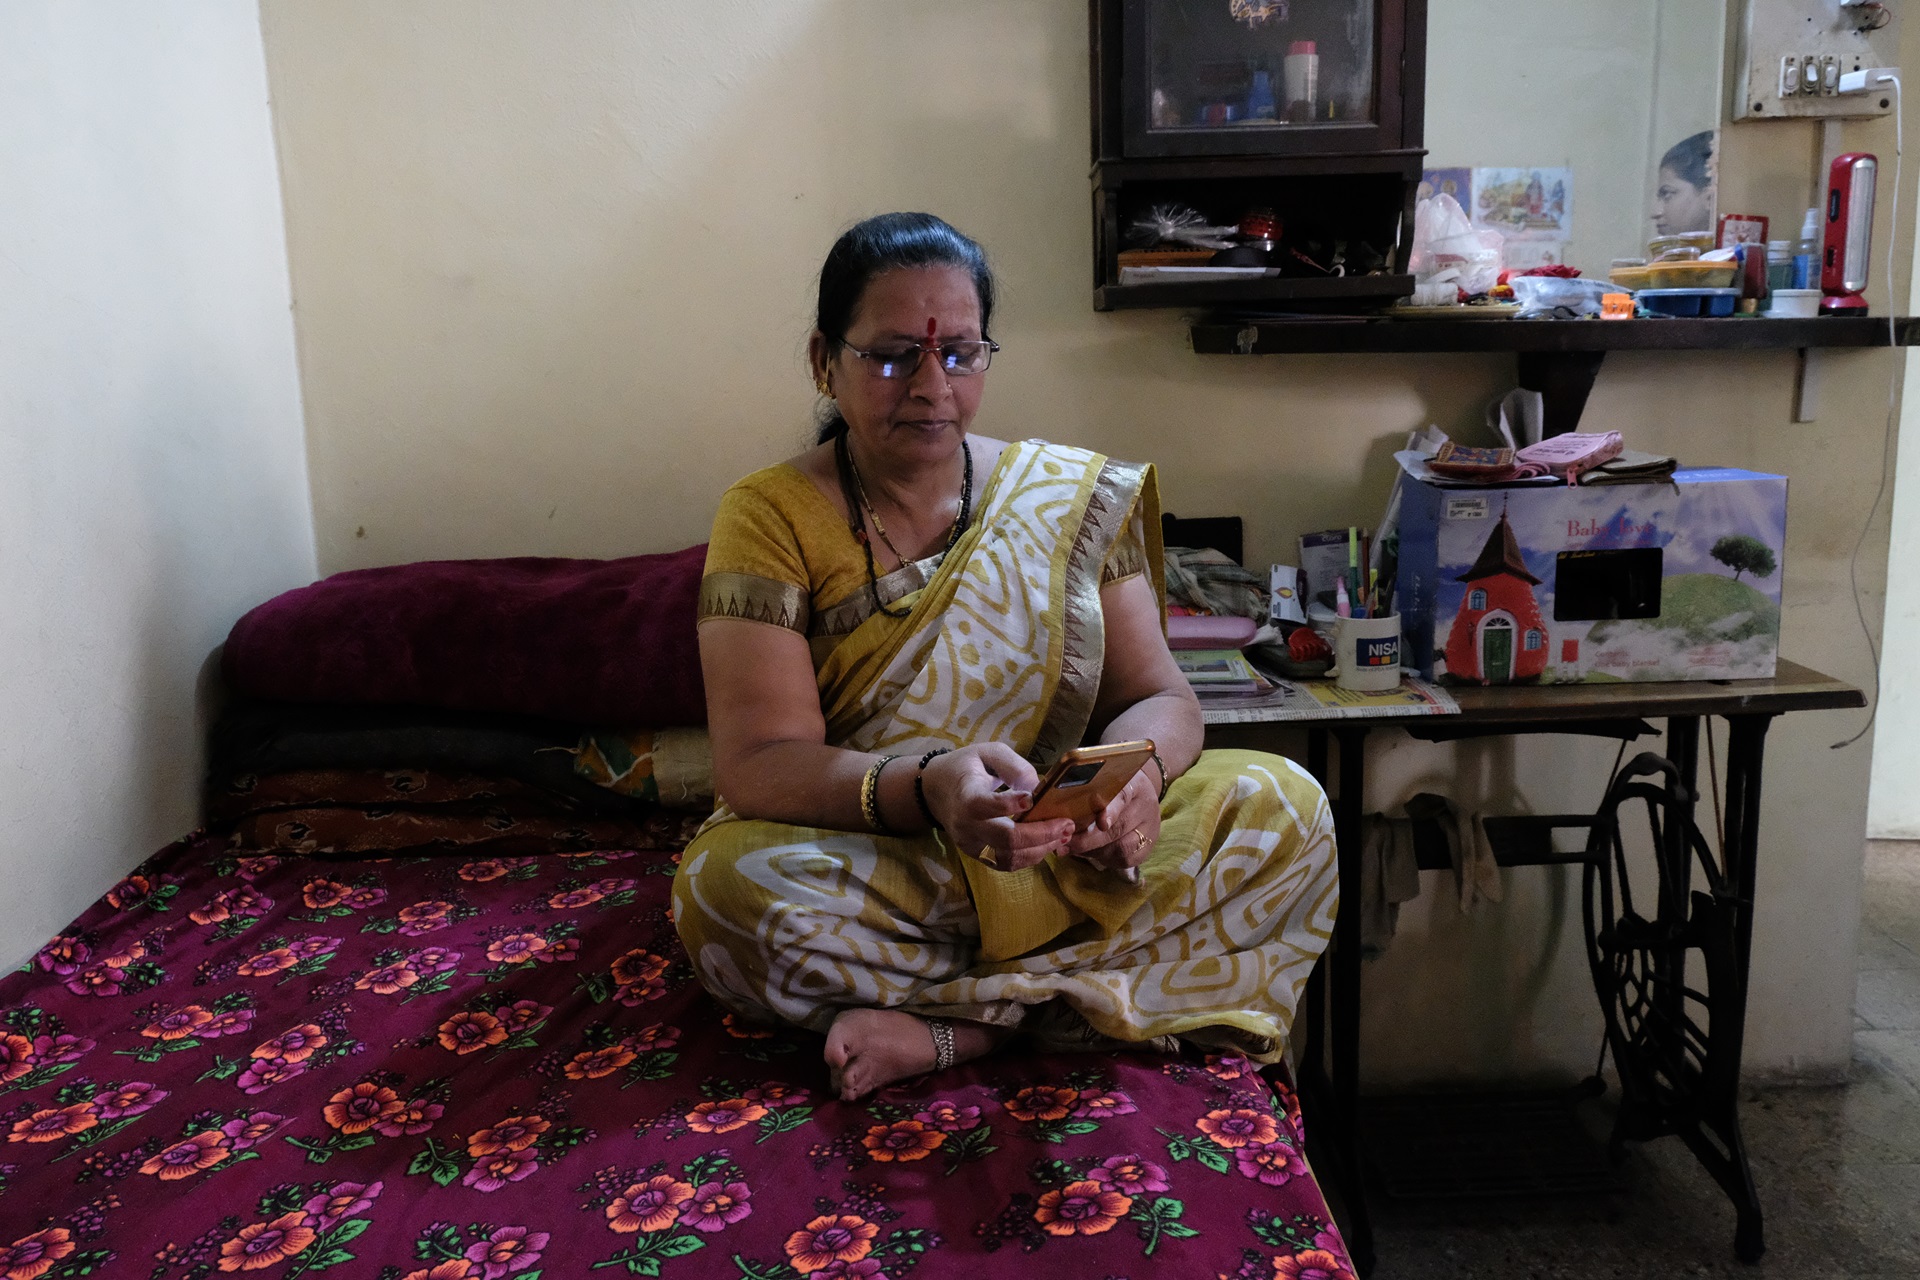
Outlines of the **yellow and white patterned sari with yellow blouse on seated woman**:
{"label": "yellow and white patterned sari with yellow blouse on seated woman", "polygon": [[[1150,466],[1010,445],[952,551],[879,581],[791,466],[722,499],[701,618],[808,635],[828,743],[916,754],[1000,741],[1044,770],[1087,733],[1100,589],[1160,587]],[[1210,750],[1173,781],[1140,883],[1077,858],[995,871],[941,833],[881,837],[718,812],[674,879],[674,923],[728,1007],[826,1031],[904,1007],[1052,1044],[1185,1036],[1260,1061],[1332,933],[1327,798],[1279,756]],[[1089,1034],[1092,1032],[1092,1034]]]}

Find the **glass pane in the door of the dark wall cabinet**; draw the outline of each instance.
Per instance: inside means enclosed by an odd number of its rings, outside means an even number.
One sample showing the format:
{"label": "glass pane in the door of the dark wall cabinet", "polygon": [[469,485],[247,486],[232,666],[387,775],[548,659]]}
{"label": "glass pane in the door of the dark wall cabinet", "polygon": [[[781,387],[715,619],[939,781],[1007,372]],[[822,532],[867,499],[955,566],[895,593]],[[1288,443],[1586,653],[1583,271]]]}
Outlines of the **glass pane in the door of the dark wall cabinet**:
{"label": "glass pane in the door of the dark wall cabinet", "polygon": [[[1135,46],[1150,154],[1294,152],[1380,123],[1377,0],[1146,0]],[[1144,10],[1144,12],[1142,12]],[[1137,56],[1139,56],[1137,54]],[[1144,129],[1142,129],[1144,125]],[[1144,134],[1144,136],[1142,136]]]}

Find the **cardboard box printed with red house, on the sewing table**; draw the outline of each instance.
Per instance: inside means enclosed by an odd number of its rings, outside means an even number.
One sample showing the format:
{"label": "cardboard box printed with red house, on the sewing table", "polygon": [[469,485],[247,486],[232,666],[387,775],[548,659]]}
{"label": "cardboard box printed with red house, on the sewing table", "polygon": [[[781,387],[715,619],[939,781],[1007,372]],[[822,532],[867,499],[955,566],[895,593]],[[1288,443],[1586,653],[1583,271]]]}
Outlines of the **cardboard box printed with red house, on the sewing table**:
{"label": "cardboard box printed with red house, on the sewing table", "polygon": [[1407,664],[1469,685],[1751,679],[1780,654],[1786,476],[1440,487],[1402,476]]}

